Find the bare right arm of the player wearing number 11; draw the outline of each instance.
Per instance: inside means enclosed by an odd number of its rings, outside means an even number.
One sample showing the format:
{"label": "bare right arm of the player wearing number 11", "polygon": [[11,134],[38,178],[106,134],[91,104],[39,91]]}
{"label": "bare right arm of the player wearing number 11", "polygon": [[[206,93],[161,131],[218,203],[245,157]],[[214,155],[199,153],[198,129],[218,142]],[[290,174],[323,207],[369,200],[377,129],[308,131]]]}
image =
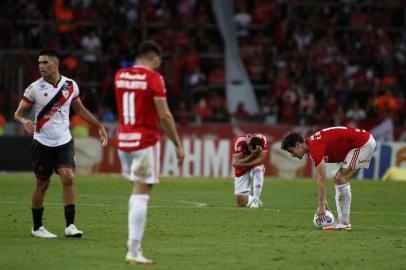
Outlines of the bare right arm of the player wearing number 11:
{"label": "bare right arm of the player wearing number 11", "polygon": [[178,165],[181,166],[183,163],[183,159],[185,158],[185,153],[183,151],[182,144],[180,143],[178,132],[176,131],[175,120],[173,119],[173,115],[169,110],[168,103],[164,98],[155,98],[154,103],[155,108],[158,112],[159,121],[161,123],[162,129],[164,130],[168,138],[175,145],[176,157],[178,158]]}

